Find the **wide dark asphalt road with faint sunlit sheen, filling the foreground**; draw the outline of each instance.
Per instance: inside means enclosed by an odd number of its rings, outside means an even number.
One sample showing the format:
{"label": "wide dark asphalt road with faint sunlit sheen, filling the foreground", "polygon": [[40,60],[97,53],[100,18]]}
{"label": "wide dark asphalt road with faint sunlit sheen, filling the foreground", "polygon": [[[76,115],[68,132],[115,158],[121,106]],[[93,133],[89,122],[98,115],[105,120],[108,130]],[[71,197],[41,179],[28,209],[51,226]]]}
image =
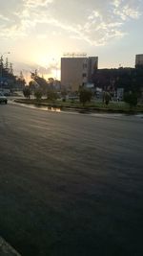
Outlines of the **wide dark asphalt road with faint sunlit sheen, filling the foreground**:
{"label": "wide dark asphalt road with faint sunlit sheen, filling the foreground", "polygon": [[0,235],[23,256],[142,256],[143,119],[0,105]]}

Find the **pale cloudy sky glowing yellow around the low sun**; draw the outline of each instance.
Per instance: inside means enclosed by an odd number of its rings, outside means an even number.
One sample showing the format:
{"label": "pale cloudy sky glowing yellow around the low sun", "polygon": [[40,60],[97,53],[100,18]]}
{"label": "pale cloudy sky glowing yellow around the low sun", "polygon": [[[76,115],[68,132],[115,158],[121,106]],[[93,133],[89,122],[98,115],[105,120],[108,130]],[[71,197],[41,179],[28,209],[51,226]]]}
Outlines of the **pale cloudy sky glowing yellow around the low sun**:
{"label": "pale cloudy sky glowing yellow around the low sun", "polygon": [[143,0],[0,0],[0,54],[26,76],[60,78],[65,53],[99,68],[133,67],[143,54]]}

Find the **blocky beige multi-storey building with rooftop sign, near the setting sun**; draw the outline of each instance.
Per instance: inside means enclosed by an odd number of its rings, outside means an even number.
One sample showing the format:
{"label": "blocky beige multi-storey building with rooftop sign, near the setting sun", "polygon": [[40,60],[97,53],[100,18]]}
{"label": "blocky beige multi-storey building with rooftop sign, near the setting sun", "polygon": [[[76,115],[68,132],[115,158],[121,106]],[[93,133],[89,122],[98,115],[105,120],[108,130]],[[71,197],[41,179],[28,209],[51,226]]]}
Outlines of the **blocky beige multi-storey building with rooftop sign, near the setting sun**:
{"label": "blocky beige multi-storey building with rooftop sign, near the setting sun", "polygon": [[98,68],[98,57],[61,58],[61,84],[72,91],[92,82],[92,74]]}

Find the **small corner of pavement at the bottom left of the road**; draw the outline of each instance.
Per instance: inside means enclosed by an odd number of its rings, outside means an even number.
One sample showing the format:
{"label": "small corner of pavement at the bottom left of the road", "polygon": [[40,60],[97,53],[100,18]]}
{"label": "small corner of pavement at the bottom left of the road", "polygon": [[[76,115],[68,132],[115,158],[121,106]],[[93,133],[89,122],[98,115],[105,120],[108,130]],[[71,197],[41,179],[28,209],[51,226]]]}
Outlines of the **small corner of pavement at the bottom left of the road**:
{"label": "small corner of pavement at the bottom left of the road", "polygon": [[20,256],[20,254],[0,237],[0,256]]}

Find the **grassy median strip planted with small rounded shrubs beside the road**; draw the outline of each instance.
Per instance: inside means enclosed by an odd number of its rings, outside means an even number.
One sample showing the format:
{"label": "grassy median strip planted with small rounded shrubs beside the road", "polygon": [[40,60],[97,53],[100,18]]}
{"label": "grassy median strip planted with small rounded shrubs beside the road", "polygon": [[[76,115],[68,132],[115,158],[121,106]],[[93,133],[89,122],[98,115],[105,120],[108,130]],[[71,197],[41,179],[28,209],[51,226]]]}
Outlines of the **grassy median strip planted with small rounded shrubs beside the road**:
{"label": "grassy median strip planted with small rounded shrubs beside the road", "polygon": [[[50,93],[51,96],[47,98],[41,97],[41,92],[36,91],[34,94],[34,99],[17,99],[16,102],[29,104],[29,105],[47,105],[60,108],[72,108],[72,109],[85,109],[85,110],[96,110],[96,111],[105,111],[105,112],[118,112],[118,113],[136,113],[143,112],[143,104],[136,103],[136,98],[134,96],[126,95],[124,102],[112,102],[109,98],[108,100],[98,101],[93,100],[90,93],[86,95],[86,92],[82,91],[79,97],[79,100],[63,100],[58,99],[56,93]],[[49,95],[50,95],[49,94]],[[108,103],[107,103],[108,101]]]}

